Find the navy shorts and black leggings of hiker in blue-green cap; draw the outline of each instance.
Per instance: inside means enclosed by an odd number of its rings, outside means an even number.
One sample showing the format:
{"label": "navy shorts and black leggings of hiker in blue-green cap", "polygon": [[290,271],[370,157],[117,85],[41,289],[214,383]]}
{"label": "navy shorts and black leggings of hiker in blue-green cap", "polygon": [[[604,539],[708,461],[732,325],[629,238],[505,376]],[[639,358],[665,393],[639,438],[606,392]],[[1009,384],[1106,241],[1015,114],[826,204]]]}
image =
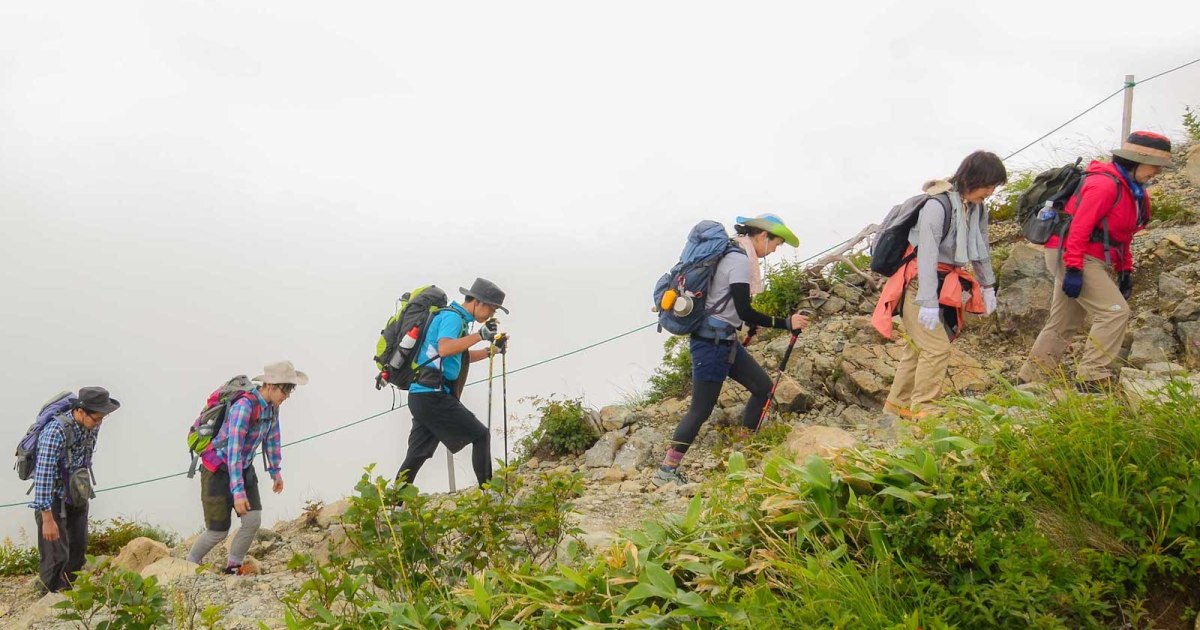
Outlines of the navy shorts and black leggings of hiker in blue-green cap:
{"label": "navy shorts and black leggings of hiker in blue-green cap", "polygon": [[[737,340],[714,342],[692,336],[691,343],[691,406],[676,427],[671,446],[679,452],[688,452],[691,443],[700,433],[700,427],[713,414],[716,398],[726,378],[740,383],[750,390],[750,400],[742,412],[742,426],[755,430],[762,409],[770,398],[770,376],[750,356],[745,347]],[[732,356],[732,361],[730,360]]]}

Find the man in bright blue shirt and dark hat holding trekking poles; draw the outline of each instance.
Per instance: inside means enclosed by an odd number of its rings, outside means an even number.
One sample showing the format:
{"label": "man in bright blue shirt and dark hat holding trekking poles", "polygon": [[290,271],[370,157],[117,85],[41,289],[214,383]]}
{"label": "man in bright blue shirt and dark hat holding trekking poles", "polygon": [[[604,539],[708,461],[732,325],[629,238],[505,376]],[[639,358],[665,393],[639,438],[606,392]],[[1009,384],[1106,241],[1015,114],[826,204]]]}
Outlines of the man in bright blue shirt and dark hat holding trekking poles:
{"label": "man in bright blue shirt and dark hat holding trekking poles", "polygon": [[[487,427],[470,413],[458,397],[467,380],[467,365],[506,349],[508,337],[498,335],[496,311],[504,307],[504,292],[494,283],[475,278],[469,289],[458,289],[467,298],[450,302],[430,322],[415,360],[420,366],[408,389],[408,408],[413,412],[413,430],[408,433],[408,454],[396,472],[396,479],[412,482],[438,443],[450,452],[472,445],[472,466],[482,486],[492,479],[492,454]],[[472,324],[481,324],[470,332]],[[479,342],[487,348],[470,349]],[[466,361],[463,359],[467,359]]]}

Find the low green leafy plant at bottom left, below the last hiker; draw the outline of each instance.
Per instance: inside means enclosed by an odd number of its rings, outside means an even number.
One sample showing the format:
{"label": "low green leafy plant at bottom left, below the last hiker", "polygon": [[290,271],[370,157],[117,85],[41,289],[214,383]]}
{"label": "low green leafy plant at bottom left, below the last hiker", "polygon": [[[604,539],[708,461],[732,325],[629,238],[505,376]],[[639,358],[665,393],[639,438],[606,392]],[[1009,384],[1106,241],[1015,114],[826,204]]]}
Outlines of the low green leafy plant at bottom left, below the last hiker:
{"label": "low green leafy plant at bottom left, below the last hiker", "polygon": [[167,599],[157,578],[143,578],[133,571],[112,566],[108,558],[96,562],[89,556],[88,560],[95,563],[95,569],[80,571],[72,587],[62,592],[67,599],[54,605],[61,611],[59,619],[97,630],[143,630],[169,623]]}

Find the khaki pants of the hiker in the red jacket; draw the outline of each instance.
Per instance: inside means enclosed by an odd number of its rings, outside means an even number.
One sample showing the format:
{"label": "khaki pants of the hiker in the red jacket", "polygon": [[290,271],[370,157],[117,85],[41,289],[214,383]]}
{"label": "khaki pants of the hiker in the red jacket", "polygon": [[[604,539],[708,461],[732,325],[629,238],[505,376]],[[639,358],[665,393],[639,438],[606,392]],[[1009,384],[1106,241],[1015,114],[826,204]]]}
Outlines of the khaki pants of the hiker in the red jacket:
{"label": "khaki pants of the hiker in the red jacket", "polygon": [[1109,275],[1108,265],[1085,256],[1084,288],[1079,292],[1079,298],[1073,299],[1062,292],[1066,268],[1060,262],[1058,250],[1046,250],[1045,258],[1046,269],[1054,275],[1050,316],[1018,376],[1021,380],[1033,382],[1058,373],[1062,354],[1084,325],[1084,319],[1091,316],[1092,329],[1087,334],[1087,344],[1079,359],[1075,377],[1079,380],[1115,377],[1115,364],[1129,324],[1129,305]]}

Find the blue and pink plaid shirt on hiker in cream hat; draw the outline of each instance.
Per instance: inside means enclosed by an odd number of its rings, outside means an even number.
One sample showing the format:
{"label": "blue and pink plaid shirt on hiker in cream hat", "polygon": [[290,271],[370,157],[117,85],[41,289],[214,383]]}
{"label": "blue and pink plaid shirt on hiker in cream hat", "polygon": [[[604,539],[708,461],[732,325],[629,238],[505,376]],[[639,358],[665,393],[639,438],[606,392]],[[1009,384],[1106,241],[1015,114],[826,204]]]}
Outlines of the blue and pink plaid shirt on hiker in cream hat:
{"label": "blue and pink plaid shirt on hiker in cream hat", "polygon": [[[229,469],[229,492],[234,500],[246,498],[246,485],[242,480],[242,469],[254,463],[254,451],[258,445],[263,445],[266,454],[266,472],[271,479],[280,474],[280,422],[276,420],[278,413],[275,407],[266,403],[256,389],[252,396],[244,396],[238,402],[229,406],[221,431],[216,439],[204,451],[200,460],[204,467],[211,472],[217,472],[222,466]],[[251,426],[253,408],[258,407],[258,421]]]}

